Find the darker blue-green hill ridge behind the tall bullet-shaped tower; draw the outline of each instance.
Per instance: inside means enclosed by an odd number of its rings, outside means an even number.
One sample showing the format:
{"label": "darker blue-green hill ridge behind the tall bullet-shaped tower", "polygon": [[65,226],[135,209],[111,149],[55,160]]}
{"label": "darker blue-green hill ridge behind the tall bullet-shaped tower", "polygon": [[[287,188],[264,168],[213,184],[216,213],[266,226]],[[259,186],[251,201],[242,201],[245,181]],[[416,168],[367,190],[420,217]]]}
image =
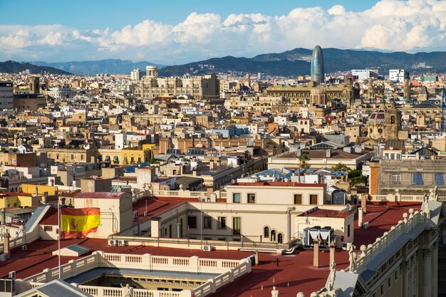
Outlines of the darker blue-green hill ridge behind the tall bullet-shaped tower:
{"label": "darker blue-green hill ridge behind the tall bullet-shaped tower", "polygon": [[[401,68],[411,73],[446,72],[446,53],[381,53],[378,51],[353,51],[325,48],[323,57],[326,73],[352,69],[378,68],[388,74],[389,69]],[[312,50],[295,48],[284,53],[265,53],[254,58],[210,58],[204,61],[162,68],[160,75],[202,75],[206,73],[249,72],[266,75],[309,75]],[[432,68],[418,68],[420,63]]]}

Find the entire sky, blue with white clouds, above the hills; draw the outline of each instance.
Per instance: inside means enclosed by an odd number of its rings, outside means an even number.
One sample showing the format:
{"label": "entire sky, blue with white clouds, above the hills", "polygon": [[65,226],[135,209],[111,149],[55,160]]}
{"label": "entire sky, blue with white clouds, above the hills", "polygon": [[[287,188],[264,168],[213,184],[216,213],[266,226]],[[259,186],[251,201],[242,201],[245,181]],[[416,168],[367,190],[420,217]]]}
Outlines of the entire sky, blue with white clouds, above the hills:
{"label": "entire sky, blue with white clouds, above the hills", "polygon": [[180,64],[293,48],[446,51],[444,0],[0,0],[0,61]]}

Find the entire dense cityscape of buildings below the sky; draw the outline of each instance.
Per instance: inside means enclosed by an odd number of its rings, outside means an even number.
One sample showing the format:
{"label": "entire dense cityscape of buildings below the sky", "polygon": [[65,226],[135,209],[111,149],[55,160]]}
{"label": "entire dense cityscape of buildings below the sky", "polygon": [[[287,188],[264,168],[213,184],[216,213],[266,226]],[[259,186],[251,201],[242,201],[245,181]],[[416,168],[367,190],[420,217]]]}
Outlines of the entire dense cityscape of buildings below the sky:
{"label": "entire dense cityscape of buildings below the sky", "polygon": [[446,296],[446,53],[310,50],[0,65],[0,297]]}

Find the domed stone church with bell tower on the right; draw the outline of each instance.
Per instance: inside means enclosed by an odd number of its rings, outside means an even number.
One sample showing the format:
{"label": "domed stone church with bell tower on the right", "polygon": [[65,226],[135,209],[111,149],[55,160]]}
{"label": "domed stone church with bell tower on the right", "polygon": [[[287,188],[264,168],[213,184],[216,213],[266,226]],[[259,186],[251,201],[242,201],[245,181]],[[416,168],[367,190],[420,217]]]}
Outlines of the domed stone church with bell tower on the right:
{"label": "domed stone church with bell tower on the right", "polygon": [[368,137],[372,139],[398,140],[400,131],[401,112],[394,104],[390,108],[382,104],[368,117]]}

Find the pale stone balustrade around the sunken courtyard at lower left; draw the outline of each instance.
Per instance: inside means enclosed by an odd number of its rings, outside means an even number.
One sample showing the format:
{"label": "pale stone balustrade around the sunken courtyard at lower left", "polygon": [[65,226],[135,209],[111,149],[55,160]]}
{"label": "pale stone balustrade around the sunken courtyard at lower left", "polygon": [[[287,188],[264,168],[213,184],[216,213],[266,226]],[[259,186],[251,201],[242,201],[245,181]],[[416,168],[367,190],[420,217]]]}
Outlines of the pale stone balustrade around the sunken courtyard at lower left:
{"label": "pale stone balustrade around the sunken courtyard at lower left", "polygon": [[[207,296],[215,292],[217,288],[225,286],[245,273],[251,271],[251,262],[249,259],[228,260],[228,259],[201,259],[197,256],[172,257],[172,256],[154,256],[151,254],[131,255],[131,254],[110,254],[103,251],[95,251],[90,256],[77,260],[71,260],[67,264],[61,265],[61,279],[72,278],[80,273],[90,271],[98,267],[113,267],[120,269],[146,269],[147,271],[183,271],[190,273],[212,273],[219,274],[210,278],[202,286],[194,290],[183,290],[181,292],[156,291],[135,289],[135,297],[183,297],[183,296]],[[31,288],[42,286],[44,283],[59,278],[59,269],[45,269],[23,281],[16,283],[17,293],[22,293]],[[99,286],[79,286],[81,290],[94,297],[118,297],[122,296],[125,288],[108,288]]]}

